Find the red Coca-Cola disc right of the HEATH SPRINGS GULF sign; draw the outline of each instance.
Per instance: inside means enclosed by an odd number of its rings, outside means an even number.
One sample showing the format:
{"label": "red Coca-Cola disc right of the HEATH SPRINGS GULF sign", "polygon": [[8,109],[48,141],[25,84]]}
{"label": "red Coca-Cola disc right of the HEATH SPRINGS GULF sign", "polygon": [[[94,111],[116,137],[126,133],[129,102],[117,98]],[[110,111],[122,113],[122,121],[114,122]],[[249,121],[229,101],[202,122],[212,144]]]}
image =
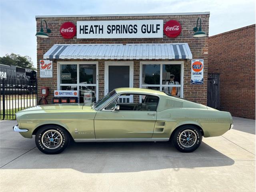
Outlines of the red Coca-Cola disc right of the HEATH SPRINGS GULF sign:
{"label": "red Coca-Cola disc right of the HEATH SPRINGS GULF sign", "polygon": [[177,37],[180,35],[181,25],[176,20],[170,20],[164,25],[164,34],[168,37]]}

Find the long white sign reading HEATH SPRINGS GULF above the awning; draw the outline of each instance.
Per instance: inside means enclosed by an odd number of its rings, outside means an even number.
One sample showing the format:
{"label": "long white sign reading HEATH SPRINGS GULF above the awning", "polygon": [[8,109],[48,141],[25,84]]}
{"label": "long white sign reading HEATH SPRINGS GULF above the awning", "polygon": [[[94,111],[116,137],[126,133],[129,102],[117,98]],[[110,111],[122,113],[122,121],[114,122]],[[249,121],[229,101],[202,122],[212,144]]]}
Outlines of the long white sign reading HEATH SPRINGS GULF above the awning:
{"label": "long white sign reading HEATH SPRINGS GULF above the awning", "polygon": [[163,38],[163,20],[77,21],[76,38]]}

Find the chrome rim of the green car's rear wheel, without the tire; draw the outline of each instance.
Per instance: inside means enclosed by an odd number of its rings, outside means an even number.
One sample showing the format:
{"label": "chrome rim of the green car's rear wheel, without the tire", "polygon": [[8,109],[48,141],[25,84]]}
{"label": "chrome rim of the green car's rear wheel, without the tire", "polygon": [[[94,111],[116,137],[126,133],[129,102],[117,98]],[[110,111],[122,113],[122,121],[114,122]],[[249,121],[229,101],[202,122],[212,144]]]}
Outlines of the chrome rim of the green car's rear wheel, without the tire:
{"label": "chrome rim of the green car's rear wheel, without the tire", "polygon": [[180,133],[179,142],[184,148],[189,148],[196,144],[197,136],[192,130],[184,130]]}

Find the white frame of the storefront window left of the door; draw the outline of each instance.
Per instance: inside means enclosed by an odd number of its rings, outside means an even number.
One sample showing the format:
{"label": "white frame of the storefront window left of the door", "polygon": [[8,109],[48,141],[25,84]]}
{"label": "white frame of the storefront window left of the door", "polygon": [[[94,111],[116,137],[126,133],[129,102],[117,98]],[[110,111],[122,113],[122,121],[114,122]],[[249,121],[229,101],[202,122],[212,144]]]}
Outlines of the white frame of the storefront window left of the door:
{"label": "white frame of the storefront window left of the door", "polygon": [[[63,84],[60,83],[60,65],[77,65],[76,71],[77,71],[77,82],[76,84]],[[96,65],[96,84],[80,84],[79,80],[79,66],[80,65]],[[59,61],[57,62],[57,89],[60,90],[60,86],[76,86],[78,90],[78,98],[80,97],[79,94],[79,86],[96,86],[96,101],[99,99],[99,83],[98,83],[98,62],[97,61]]]}

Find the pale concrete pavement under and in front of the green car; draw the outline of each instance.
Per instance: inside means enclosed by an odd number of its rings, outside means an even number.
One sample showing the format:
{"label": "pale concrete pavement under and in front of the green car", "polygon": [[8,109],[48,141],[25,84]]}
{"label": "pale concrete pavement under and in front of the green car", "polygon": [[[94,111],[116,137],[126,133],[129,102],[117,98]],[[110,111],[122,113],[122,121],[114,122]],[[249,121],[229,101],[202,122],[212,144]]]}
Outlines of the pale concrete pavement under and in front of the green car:
{"label": "pale concrete pavement under and in front of the green car", "polygon": [[1,191],[255,191],[255,120],[234,117],[233,130],[187,154],[169,142],[117,142],[46,155],[15,124],[0,121]]}

